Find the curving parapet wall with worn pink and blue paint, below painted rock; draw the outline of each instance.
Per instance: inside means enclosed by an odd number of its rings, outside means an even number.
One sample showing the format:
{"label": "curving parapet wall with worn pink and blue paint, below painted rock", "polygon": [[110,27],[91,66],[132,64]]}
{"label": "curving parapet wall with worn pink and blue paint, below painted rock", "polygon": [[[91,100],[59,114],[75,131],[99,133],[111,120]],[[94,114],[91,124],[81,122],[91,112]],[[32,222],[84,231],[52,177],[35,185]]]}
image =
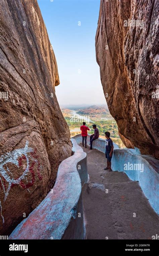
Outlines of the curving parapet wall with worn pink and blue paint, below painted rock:
{"label": "curving parapet wall with worn pink and blue paint, below painted rock", "polygon": [[53,189],[9,239],[85,238],[82,185],[88,180],[87,154],[71,142],[74,154],[59,165]]}

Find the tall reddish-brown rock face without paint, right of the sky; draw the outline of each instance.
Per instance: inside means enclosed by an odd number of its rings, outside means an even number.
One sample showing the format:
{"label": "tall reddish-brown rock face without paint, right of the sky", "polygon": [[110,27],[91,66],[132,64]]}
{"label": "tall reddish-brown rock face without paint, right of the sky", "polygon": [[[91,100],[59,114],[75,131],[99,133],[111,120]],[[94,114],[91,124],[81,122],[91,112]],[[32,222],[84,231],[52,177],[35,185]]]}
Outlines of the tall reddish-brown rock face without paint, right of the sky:
{"label": "tall reddish-brown rock face without paint, right of the sky", "polygon": [[101,0],[96,58],[111,115],[127,147],[159,158],[157,0]]}

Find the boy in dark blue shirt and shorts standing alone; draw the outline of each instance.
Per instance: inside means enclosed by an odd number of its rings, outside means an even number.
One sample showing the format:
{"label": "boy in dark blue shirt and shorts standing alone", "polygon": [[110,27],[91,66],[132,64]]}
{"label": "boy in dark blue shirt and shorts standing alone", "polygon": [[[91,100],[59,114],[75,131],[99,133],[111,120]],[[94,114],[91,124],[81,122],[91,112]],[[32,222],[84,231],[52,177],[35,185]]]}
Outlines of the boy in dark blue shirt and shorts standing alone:
{"label": "boy in dark blue shirt and shorts standing alone", "polygon": [[105,149],[105,157],[107,158],[107,167],[104,168],[104,170],[109,169],[109,172],[112,171],[111,169],[111,159],[112,159],[112,154],[113,154],[113,141],[110,139],[110,133],[105,132],[105,137],[106,137],[106,149]]}

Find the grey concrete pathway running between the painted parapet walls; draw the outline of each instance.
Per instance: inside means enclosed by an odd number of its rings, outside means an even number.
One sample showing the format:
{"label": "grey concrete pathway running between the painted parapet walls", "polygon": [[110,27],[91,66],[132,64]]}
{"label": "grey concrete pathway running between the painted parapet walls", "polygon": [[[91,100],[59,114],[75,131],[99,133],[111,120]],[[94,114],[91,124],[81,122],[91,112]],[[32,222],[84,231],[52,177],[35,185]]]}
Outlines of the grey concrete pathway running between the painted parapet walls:
{"label": "grey concrete pathway running between the painted parapet walls", "polygon": [[139,182],[124,172],[104,171],[105,154],[83,149],[90,176],[89,189],[83,187],[87,239],[152,239],[159,234],[158,215]]}

